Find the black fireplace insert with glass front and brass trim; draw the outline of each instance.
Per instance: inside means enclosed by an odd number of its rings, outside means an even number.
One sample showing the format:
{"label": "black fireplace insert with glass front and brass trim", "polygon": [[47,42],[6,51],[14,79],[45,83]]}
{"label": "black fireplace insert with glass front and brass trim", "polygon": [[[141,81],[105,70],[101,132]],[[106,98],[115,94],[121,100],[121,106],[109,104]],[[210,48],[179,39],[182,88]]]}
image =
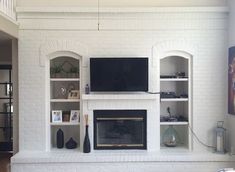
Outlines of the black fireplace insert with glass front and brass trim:
{"label": "black fireplace insert with glass front and brass trim", "polygon": [[147,149],[146,110],[94,110],[94,149]]}

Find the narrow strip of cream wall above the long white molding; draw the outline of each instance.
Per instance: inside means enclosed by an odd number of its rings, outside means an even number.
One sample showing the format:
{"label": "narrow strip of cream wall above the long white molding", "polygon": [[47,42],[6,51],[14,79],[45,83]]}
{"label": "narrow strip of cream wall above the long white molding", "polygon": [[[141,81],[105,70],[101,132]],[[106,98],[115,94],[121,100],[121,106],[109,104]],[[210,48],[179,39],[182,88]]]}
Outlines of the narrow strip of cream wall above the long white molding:
{"label": "narrow strip of cream wall above the long white molding", "polygon": [[[17,6],[97,6],[98,0],[17,0]],[[100,0],[100,6],[226,6],[227,0]]]}

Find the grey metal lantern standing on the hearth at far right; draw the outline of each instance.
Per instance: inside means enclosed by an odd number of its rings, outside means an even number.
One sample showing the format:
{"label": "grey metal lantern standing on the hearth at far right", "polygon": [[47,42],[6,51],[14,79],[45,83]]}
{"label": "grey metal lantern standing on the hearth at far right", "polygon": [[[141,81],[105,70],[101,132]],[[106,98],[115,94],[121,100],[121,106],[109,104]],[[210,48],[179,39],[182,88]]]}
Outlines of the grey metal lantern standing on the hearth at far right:
{"label": "grey metal lantern standing on the hearth at far right", "polygon": [[215,129],[216,132],[216,152],[224,154],[225,153],[225,135],[226,129],[223,128],[224,121],[217,122],[217,128]]}

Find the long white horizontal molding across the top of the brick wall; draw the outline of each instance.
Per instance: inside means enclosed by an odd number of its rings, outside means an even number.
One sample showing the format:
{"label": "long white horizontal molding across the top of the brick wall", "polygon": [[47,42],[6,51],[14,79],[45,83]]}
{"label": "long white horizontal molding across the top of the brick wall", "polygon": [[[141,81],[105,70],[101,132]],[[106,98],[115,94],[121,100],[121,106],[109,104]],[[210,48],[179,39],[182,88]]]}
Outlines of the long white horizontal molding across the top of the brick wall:
{"label": "long white horizontal molding across the top of the brick wall", "polygon": [[[16,7],[17,13],[97,13],[98,7]],[[100,13],[227,13],[228,7],[101,7]]]}

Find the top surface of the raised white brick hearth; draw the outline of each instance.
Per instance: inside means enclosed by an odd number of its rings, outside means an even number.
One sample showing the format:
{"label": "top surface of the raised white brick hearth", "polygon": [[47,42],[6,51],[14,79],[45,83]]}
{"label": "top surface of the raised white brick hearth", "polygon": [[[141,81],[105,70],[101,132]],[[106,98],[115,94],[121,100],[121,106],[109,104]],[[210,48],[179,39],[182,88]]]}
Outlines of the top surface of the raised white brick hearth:
{"label": "top surface of the raised white brick hearth", "polygon": [[93,151],[81,152],[39,152],[21,151],[11,158],[12,164],[38,163],[115,163],[115,162],[235,162],[235,156],[216,153],[192,152],[147,152],[142,150],[128,151]]}

